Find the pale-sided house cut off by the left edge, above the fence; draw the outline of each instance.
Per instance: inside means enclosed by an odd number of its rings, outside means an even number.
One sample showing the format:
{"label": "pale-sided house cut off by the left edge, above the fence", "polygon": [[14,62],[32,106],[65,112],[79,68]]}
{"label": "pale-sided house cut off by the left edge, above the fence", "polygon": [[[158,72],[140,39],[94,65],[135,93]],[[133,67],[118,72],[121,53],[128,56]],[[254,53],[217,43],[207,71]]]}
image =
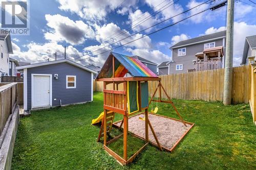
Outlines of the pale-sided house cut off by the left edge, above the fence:
{"label": "pale-sided house cut off by the left edge, above the fence", "polygon": [[9,54],[13,54],[11,35],[0,30],[0,76],[9,75]]}

